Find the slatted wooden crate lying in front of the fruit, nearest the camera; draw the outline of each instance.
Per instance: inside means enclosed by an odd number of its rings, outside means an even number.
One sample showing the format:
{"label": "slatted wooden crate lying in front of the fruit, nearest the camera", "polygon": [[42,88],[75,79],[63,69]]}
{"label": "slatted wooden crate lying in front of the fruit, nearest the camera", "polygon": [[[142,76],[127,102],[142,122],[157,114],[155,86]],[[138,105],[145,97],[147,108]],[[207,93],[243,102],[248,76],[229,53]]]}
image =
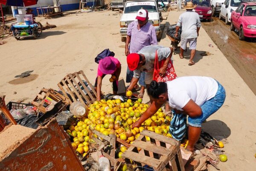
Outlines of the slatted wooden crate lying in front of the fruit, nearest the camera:
{"label": "slatted wooden crate lying in front of the fruit, nearest the camera", "polygon": [[[145,136],[150,137],[150,142],[146,141]],[[140,152],[138,148],[141,149]],[[155,171],[185,171],[180,143],[148,130],[140,133],[122,157],[133,160],[138,167],[148,165]]]}

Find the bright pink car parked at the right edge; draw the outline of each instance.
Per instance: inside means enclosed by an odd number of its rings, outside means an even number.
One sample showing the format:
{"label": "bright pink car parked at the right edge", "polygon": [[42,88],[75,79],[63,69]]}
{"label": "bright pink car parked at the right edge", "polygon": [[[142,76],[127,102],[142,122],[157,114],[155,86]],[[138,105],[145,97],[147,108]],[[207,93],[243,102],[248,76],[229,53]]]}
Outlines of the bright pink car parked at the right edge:
{"label": "bright pink car parked at the right edge", "polygon": [[230,30],[239,31],[239,40],[256,38],[256,2],[241,3],[231,14]]}

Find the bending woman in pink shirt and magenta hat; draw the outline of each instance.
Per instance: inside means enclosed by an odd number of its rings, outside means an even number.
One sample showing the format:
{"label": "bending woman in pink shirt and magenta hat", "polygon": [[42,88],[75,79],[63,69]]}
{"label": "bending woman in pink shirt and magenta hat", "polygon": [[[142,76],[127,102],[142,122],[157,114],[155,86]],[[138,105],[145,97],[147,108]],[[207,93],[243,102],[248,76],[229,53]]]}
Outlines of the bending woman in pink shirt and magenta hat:
{"label": "bending woman in pink shirt and magenta hat", "polygon": [[113,94],[117,94],[118,91],[118,79],[121,73],[121,64],[118,59],[108,56],[99,61],[98,66],[98,74],[94,84],[94,87],[97,91],[97,100],[100,101],[101,96],[101,87],[102,87],[102,79],[105,75],[111,74],[114,75],[113,78]]}

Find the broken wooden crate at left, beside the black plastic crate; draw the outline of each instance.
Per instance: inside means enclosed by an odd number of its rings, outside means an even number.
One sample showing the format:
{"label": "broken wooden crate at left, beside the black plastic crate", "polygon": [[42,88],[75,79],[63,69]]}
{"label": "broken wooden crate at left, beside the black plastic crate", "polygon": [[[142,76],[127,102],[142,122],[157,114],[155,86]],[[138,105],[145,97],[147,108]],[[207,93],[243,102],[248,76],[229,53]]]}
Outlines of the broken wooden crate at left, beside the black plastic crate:
{"label": "broken wooden crate at left, beside the black plastic crate", "polygon": [[[52,99],[51,102],[49,99]],[[40,101],[40,102],[38,102]],[[42,113],[46,113],[49,105],[54,106],[55,103],[58,101],[61,101],[64,103],[64,109],[67,107],[68,104],[71,104],[70,99],[62,96],[60,93],[53,89],[46,89],[42,88],[41,91],[38,93],[38,95],[35,97],[35,99],[31,102],[35,107],[38,108]]]}

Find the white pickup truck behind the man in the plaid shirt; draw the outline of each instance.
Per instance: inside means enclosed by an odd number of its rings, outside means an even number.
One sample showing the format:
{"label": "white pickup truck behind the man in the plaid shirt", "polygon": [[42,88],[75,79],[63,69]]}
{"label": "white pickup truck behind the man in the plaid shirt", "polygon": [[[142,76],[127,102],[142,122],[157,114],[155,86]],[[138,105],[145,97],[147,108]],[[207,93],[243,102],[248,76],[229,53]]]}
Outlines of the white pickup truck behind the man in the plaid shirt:
{"label": "white pickup truck behind the man in the plaid shirt", "polygon": [[125,41],[127,36],[127,27],[133,22],[140,9],[148,10],[148,23],[151,23],[157,35],[157,41],[161,40],[160,17],[155,0],[132,0],[126,1],[122,17],[120,19],[121,41]]}

